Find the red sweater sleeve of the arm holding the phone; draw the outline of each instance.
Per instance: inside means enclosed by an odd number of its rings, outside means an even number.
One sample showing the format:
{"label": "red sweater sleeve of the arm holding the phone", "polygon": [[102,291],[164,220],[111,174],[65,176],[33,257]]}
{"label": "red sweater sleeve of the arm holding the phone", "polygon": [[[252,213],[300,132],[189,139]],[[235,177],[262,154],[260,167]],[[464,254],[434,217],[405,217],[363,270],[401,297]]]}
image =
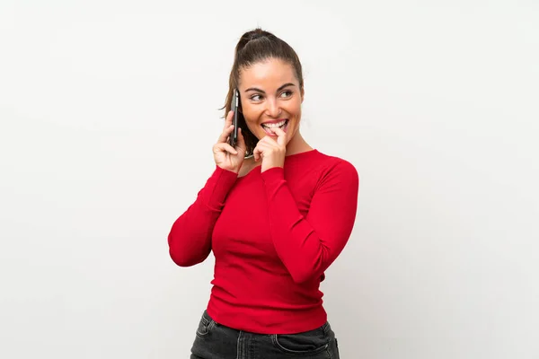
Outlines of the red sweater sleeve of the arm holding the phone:
{"label": "red sweater sleeve of the arm holding the phone", "polygon": [[216,166],[195,202],[172,224],[169,253],[178,266],[194,266],[208,258],[213,228],[236,179],[235,172]]}

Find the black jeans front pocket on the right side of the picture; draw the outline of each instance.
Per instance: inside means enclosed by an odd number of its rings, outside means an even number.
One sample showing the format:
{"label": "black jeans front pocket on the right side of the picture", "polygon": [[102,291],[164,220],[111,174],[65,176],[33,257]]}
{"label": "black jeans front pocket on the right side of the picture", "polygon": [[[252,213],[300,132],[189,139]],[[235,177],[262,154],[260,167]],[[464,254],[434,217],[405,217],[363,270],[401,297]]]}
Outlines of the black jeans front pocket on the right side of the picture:
{"label": "black jeans front pocket on the right side of the picture", "polygon": [[330,344],[330,337],[325,330],[326,325],[321,328],[297,334],[274,334],[272,336],[273,345],[287,354],[314,355],[327,350]]}

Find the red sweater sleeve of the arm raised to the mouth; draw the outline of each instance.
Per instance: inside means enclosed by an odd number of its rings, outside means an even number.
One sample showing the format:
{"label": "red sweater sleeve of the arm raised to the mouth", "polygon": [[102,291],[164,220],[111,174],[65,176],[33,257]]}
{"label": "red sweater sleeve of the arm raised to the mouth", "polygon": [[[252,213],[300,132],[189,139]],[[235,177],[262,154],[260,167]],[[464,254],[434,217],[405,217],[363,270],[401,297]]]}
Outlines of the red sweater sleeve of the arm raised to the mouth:
{"label": "red sweater sleeve of the arm raised to the mouth", "polygon": [[359,178],[355,167],[339,162],[319,182],[304,217],[292,197],[284,169],[262,172],[275,250],[294,282],[320,278],[344,249],[358,207]]}

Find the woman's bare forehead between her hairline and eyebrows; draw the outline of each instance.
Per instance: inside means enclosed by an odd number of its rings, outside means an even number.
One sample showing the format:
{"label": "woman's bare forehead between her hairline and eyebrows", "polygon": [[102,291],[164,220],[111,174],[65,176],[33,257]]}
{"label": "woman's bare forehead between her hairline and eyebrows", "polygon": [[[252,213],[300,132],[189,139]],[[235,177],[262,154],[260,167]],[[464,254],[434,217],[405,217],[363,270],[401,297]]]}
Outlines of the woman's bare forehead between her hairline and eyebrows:
{"label": "woman's bare forehead between her hairline and eyebrows", "polygon": [[296,83],[294,69],[287,62],[270,58],[257,62],[240,71],[239,87],[260,87],[266,90],[277,89],[283,83]]}

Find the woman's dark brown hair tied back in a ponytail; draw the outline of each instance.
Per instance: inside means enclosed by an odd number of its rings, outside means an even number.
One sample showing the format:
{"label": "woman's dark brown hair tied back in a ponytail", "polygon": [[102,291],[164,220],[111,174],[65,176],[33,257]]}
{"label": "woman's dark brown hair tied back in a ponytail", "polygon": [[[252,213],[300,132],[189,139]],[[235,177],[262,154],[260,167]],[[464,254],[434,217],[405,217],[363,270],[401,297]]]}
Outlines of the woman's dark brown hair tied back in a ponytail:
{"label": "woman's dark brown hair tied back in a ponytail", "polygon": [[[232,109],[232,94],[234,89],[238,87],[241,70],[269,58],[278,58],[290,64],[296,73],[299,88],[303,90],[303,72],[296,51],[291,48],[287,42],[279,39],[271,32],[263,31],[260,28],[247,31],[242,35],[235,47],[234,65],[230,71],[225,107],[222,108],[225,109],[225,118],[226,114]],[[242,128],[243,138],[245,139],[245,144],[247,146],[246,154],[252,154],[252,151],[259,140],[252,134],[245,123],[241,101],[238,109],[238,127]]]}

